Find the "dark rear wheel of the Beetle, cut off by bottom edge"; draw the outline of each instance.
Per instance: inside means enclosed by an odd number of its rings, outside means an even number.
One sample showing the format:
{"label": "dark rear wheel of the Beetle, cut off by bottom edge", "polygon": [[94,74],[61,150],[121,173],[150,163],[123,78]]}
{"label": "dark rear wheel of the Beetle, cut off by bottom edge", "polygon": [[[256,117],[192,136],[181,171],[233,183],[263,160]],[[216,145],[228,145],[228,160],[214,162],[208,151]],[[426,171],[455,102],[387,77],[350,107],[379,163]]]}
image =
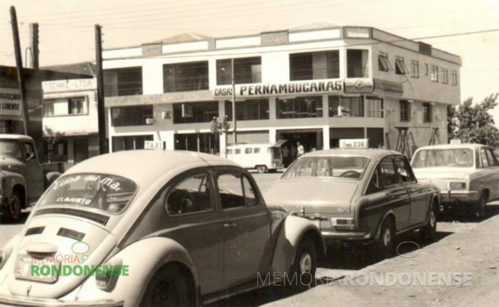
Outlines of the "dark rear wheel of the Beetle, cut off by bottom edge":
{"label": "dark rear wheel of the Beetle, cut off by bottom edge", "polygon": [[142,298],[141,306],[190,306],[189,283],[175,266],[160,269],[153,277]]}

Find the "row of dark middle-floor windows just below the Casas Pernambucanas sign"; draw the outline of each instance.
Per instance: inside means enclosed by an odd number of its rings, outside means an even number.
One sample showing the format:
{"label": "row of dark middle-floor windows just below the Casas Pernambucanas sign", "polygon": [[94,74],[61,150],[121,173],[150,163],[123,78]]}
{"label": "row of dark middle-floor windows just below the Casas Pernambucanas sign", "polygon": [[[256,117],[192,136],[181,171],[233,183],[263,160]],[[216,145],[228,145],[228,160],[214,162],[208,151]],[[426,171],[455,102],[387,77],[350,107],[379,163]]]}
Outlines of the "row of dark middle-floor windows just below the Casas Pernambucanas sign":
{"label": "row of dark middle-floor windows just below the Casas Pernambucanas sign", "polygon": [[[232,119],[232,101],[225,102],[225,114]],[[247,99],[238,101],[236,120],[268,120],[270,118],[269,99]],[[341,108],[348,108],[348,114],[340,114]],[[322,118],[322,96],[295,97],[276,99],[275,114],[277,119]],[[328,117],[383,117],[383,99],[363,96],[343,97],[328,96]],[[173,123],[207,123],[219,116],[218,102],[187,102],[173,104]],[[112,125],[140,126],[148,125],[147,119],[153,118],[153,106],[123,106],[111,108]]]}

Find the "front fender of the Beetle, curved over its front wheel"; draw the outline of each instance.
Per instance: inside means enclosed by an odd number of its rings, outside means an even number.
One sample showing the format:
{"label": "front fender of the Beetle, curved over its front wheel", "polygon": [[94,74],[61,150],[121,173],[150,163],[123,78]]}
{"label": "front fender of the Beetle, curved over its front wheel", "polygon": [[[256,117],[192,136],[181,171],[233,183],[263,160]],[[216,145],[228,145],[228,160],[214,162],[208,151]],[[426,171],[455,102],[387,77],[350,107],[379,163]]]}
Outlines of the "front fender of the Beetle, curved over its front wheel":
{"label": "front fender of the Beetle, curved over its front wheel", "polygon": [[290,271],[298,245],[305,235],[311,236],[318,257],[325,254],[325,244],[319,228],[306,218],[288,215],[279,230],[275,242],[272,258],[272,271],[274,274]]}

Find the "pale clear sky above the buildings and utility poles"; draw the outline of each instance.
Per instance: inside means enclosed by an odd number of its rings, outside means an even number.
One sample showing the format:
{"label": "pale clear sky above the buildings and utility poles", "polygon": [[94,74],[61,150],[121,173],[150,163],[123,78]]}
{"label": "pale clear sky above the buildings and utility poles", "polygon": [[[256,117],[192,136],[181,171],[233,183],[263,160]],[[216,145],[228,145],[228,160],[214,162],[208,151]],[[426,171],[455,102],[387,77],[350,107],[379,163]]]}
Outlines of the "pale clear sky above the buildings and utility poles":
{"label": "pale clear sky above the buildings and utility poles", "polygon": [[[11,6],[23,63],[29,24],[39,24],[41,67],[95,61],[96,24],[107,49],[187,32],[228,37],[325,21],[372,26],[459,55],[461,102],[499,92],[498,0],[2,0],[0,65],[15,66]],[[499,107],[493,115],[499,127]]]}

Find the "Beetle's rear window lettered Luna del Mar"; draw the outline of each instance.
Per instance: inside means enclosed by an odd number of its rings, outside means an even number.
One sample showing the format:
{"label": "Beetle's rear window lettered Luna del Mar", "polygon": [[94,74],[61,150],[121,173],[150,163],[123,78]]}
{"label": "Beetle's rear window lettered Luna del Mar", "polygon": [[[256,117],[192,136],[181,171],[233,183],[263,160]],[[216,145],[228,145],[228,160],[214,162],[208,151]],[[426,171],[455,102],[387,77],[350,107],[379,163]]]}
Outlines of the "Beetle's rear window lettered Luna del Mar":
{"label": "Beetle's rear window lettered Luna del Mar", "polygon": [[77,206],[120,213],[130,203],[137,184],[108,174],[76,174],[58,178],[40,200],[40,206]]}

